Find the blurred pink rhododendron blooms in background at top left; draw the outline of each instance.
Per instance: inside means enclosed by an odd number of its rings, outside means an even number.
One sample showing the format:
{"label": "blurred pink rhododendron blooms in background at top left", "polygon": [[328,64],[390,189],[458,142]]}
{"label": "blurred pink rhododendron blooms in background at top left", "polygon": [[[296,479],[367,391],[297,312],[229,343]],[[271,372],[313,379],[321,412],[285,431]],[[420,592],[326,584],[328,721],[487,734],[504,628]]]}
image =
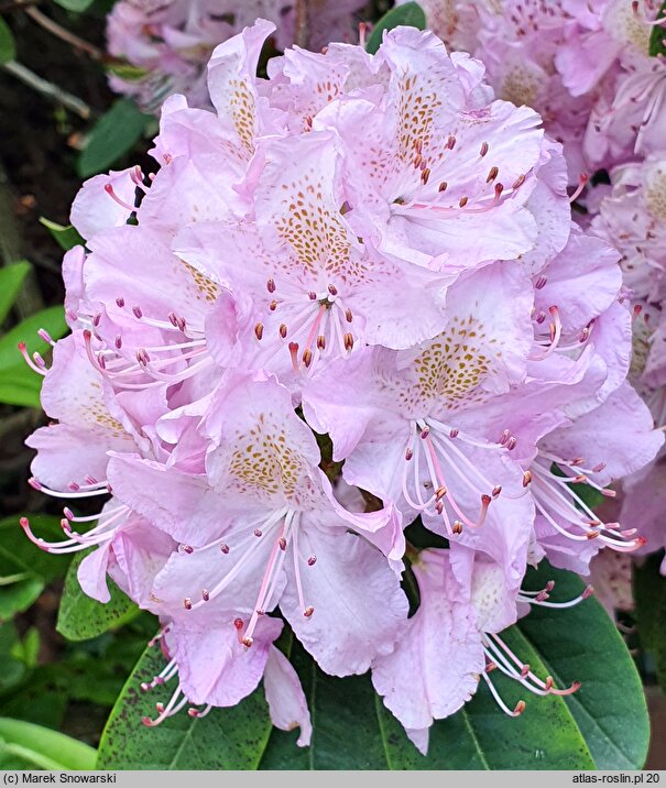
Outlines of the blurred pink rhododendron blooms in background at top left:
{"label": "blurred pink rhododendron blooms in background at top left", "polygon": [[258,17],[276,25],[271,43],[280,51],[294,43],[297,25],[319,50],[331,39],[351,40],[351,14],[361,6],[363,0],[313,0],[297,20],[293,0],[119,0],[107,20],[108,52],[118,58],[109,83],[149,112],[172,94],[185,95],[190,107],[209,107],[212,51]]}

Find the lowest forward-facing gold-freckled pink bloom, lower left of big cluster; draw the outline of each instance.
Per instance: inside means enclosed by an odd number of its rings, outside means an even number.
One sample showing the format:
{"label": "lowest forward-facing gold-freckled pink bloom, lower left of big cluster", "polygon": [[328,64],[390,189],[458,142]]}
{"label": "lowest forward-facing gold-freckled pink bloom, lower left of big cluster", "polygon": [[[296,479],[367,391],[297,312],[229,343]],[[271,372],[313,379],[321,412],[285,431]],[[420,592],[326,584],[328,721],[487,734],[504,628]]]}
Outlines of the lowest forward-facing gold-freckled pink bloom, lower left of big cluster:
{"label": "lowest forward-facing gold-freckled pink bloom, lower left of big cluster", "polygon": [[[391,512],[351,514],[337,504],[317,468],[309,428],[272,379],[230,381],[204,429],[212,441],[207,482],[131,456],[112,460],[116,494],[187,540],[165,567],[168,579],[156,595],[168,594],[186,611],[234,611],[229,626],[242,622],[248,647],[280,604],[324,670],[363,672],[376,654],[393,648],[406,617],[397,578],[363,537],[385,526]],[[248,610],[234,610],[230,584],[239,573],[253,594]]]}

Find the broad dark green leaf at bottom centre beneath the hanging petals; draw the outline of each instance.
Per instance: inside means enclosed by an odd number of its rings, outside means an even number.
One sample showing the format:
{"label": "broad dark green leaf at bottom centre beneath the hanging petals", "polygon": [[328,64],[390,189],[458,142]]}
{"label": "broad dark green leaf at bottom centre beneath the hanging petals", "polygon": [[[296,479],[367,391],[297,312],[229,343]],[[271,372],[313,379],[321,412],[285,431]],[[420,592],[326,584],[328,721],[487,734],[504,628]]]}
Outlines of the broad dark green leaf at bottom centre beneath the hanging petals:
{"label": "broad dark green leaf at bottom centre beneath the hanging petals", "polygon": [[[531,654],[531,656],[533,656]],[[541,667],[538,659],[535,668]],[[487,687],[430,729],[428,756],[375,694],[369,676],[338,679],[312,660],[297,668],[315,722],[312,745],[274,730],[262,769],[589,769],[593,760],[561,698],[535,699],[517,719],[496,707]],[[500,682],[498,682],[500,686]],[[515,690],[502,683],[509,697]],[[514,699],[514,703],[517,700]],[[542,702],[543,701],[543,702]]]}

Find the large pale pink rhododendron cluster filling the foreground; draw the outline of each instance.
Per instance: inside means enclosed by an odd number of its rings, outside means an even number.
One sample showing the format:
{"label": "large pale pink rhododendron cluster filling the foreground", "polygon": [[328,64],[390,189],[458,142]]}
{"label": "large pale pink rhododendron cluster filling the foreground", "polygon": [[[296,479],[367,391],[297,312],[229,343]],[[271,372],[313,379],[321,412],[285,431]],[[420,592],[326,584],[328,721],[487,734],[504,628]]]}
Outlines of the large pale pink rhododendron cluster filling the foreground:
{"label": "large pale pink rhododendron cluster filling the foreground", "polygon": [[[29,439],[31,483],[67,500],[65,535],[23,527],[45,550],[94,548],[86,593],[108,600],[111,577],[160,617],[146,724],[236,704],[263,677],[274,723],[307,744],[274,645],[286,621],[324,671],[370,669],[425,752],[481,681],[522,711],[495,669],[536,694],[577,688],[500,633],[580,601],[523,592],[528,565],[585,573],[643,544],[579,485],[612,495],[663,435],[626,382],[619,255],[571,221],[539,116],[407,28],[374,56],[287,50],[260,79],[273,31],[215,50],[215,112],[165,102],[156,172],[77,196],[72,335],[50,370],[29,359],[56,422]],[[417,518],[447,547],[412,545]]]}

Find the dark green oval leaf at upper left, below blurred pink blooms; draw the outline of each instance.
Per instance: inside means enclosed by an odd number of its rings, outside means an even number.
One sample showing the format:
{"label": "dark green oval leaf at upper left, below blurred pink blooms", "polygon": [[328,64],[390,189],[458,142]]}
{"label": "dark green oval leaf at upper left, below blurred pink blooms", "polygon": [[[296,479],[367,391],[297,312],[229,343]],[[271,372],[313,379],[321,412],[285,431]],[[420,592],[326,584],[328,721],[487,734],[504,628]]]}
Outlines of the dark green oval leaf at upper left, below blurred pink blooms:
{"label": "dark green oval leaf at upper left, below blurred pink blooms", "polygon": [[108,169],[128,153],[145,128],[149,117],[129,99],[120,99],[95,123],[78,163],[83,178]]}

